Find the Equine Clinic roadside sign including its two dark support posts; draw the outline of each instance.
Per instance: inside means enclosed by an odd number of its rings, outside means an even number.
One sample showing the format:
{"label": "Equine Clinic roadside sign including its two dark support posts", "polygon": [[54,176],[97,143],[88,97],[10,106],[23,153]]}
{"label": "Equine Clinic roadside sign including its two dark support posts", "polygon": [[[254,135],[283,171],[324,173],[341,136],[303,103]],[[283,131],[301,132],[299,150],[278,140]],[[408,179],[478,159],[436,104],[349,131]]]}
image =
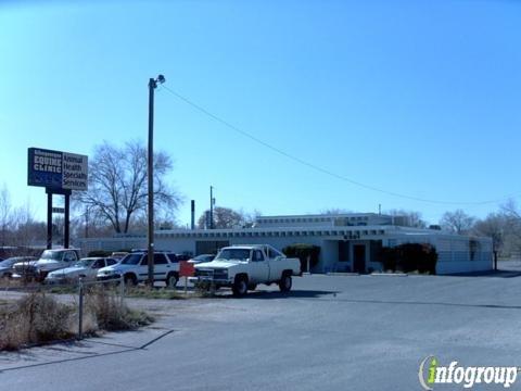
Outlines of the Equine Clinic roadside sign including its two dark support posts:
{"label": "Equine Clinic roadside sign including its two dark support posts", "polygon": [[[65,197],[64,248],[69,247],[71,194],[88,188],[88,156],[41,148],[27,150],[27,185],[45,187],[47,193],[47,248],[52,249],[52,195]],[[62,213],[61,211],[56,213]]]}

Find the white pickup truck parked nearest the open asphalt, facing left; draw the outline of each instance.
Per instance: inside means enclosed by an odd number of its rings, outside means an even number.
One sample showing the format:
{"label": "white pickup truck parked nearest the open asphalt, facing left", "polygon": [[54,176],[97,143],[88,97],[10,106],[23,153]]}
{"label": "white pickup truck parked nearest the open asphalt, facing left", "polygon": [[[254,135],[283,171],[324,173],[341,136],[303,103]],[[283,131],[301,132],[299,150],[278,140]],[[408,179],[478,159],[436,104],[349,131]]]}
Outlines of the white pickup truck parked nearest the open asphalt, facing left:
{"label": "white pickup truck parked nearest the open asphalt, facing left", "polygon": [[231,287],[236,297],[255,290],[257,283],[279,285],[291,290],[292,276],[301,275],[298,258],[289,258],[269,244],[242,244],[223,248],[214,261],[195,265],[194,285]]}

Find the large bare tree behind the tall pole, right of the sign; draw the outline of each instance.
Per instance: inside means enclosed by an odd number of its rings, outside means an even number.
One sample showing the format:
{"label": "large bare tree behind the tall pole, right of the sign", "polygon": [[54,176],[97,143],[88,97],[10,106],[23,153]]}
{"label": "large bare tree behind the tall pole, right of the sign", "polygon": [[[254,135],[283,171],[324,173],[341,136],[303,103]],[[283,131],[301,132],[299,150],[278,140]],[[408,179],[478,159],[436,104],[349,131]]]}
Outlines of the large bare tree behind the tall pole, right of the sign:
{"label": "large bare tree behind the tall pole, right of the sign", "polygon": [[[171,159],[154,154],[154,206],[177,209],[180,197],[166,184]],[[89,207],[110,222],[117,234],[127,234],[132,219],[147,211],[147,148],[142,142],[127,142],[123,148],[109,142],[96,147],[89,163],[89,190],[77,195],[77,207]]]}

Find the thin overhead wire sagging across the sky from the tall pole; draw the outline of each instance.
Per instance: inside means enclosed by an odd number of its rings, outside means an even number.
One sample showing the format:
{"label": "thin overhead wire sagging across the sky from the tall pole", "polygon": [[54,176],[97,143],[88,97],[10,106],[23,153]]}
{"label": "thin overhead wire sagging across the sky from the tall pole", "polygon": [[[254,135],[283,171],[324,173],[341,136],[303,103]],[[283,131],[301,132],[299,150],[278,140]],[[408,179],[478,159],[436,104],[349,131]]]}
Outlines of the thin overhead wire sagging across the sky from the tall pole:
{"label": "thin overhead wire sagging across the sky from the tall pole", "polygon": [[204,109],[203,106],[192,102],[191,100],[189,100],[188,98],[181,96],[180,93],[176,92],[175,90],[162,85],[161,86],[161,89],[164,89],[166,91],[168,91],[169,93],[171,93],[173,96],[177,97],[178,99],[180,99],[181,101],[183,101],[185,103],[189,104],[190,106],[192,106],[193,109],[198,110],[199,112],[207,115],[208,117],[211,117],[212,119],[220,123],[221,125],[224,125],[225,127],[255,141],[256,143],[289,159],[289,160],[292,160],[301,165],[304,165],[308,168],[313,168],[314,171],[317,171],[319,173],[322,173],[322,174],[326,174],[328,176],[331,176],[333,178],[336,178],[336,179],[340,179],[340,180],[343,180],[343,181],[346,181],[346,182],[350,182],[352,185],[355,185],[355,186],[358,186],[360,188],[364,188],[364,189],[368,189],[368,190],[371,190],[371,191],[377,191],[377,192],[380,192],[380,193],[383,193],[383,194],[387,194],[387,195],[393,195],[393,197],[397,197],[397,198],[402,198],[402,199],[407,199],[407,200],[412,200],[412,201],[419,201],[419,202],[425,202],[425,203],[433,203],[433,204],[442,204],[442,205],[485,205],[485,204],[492,204],[492,203],[498,203],[498,202],[501,202],[501,201],[506,201],[508,200],[509,198],[513,198],[513,197],[519,197],[520,194],[510,194],[510,195],[505,195],[500,199],[496,199],[496,200],[487,200],[487,201],[473,201],[473,202],[459,202],[459,201],[441,201],[441,200],[431,200],[431,199],[424,199],[424,198],[419,198],[419,197],[414,197],[414,195],[408,195],[408,194],[403,194],[403,193],[398,193],[398,192],[394,192],[394,191],[389,191],[389,190],[385,190],[385,189],[380,189],[378,187],[374,187],[374,186],[370,186],[370,185],[366,185],[366,184],[363,184],[360,181],[357,181],[357,180],[354,180],[354,179],[351,179],[346,176],[343,176],[343,175],[340,175],[340,174],[336,174],[336,173],[333,173],[327,168],[323,168],[321,166],[318,166],[314,163],[310,163],[308,161],[305,161],[298,156],[295,156],[295,155],[292,155],[283,150],[281,150],[280,148],[278,147],[275,147],[255,136],[253,136],[252,134],[245,131],[245,130],[242,130],[240,128],[238,128],[237,126],[234,126],[233,124],[229,123],[228,121],[226,119],[223,119],[221,117],[211,113],[209,111],[207,111],[206,109]]}

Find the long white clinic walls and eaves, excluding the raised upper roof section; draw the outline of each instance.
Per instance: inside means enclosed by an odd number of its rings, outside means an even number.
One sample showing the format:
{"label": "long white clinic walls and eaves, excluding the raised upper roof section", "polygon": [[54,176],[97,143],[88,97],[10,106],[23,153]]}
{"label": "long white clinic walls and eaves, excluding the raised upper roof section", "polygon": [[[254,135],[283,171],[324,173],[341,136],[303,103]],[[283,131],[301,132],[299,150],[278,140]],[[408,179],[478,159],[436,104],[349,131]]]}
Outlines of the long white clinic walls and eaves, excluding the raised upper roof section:
{"label": "long white clinic walls and eaves, excluding the raised upper roof section", "polygon": [[[357,229],[360,231],[356,232]],[[384,247],[402,243],[430,243],[436,248],[439,261],[437,274],[490,270],[492,263],[492,240],[472,239],[465,236],[448,235],[440,231],[406,229],[395,226],[318,228],[319,231],[306,231],[306,227],[291,228],[277,232],[262,229],[214,230],[214,231],[160,231],[155,237],[155,249],[176,253],[198,254],[198,242],[219,242],[229,244],[269,243],[281,250],[295,243],[308,243],[320,247],[318,265],[313,273],[353,270],[354,245],[366,247],[366,270],[380,270],[382,265],[377,260],[377,251],[371,241],[381,241]],[[353,230],[356,235],[353,235]],[[179,235],[181,232],[182,235]],[[361,236],[360,236],[361,235]],[[339,260],[339,243],[347,243],[347,262]],[[92,250],[117,251],[122,249],[145,248],[147,238],[106,238],[84,239],[78,242],[84,254]],[[201,247],[199,247],[201,249]]]}

